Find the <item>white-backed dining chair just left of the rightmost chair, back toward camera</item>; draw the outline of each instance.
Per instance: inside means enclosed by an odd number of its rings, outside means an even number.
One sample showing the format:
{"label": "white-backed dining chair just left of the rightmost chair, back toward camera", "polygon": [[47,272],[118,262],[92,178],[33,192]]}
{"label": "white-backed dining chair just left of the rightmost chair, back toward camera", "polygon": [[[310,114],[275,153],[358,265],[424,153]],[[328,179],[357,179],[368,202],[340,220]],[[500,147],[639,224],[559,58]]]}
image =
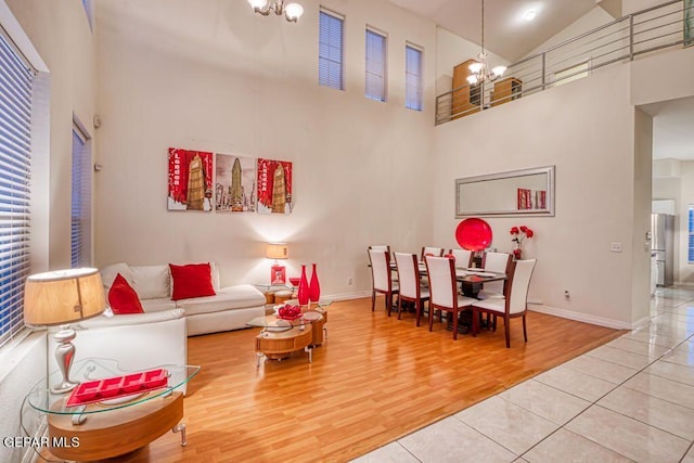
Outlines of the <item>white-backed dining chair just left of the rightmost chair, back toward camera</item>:
{"label": "white-backed dining chair just left of the rightmost chair, back toward camera", "polygon": [[424,262],[429,275],[429,331],[434,327],[434,310],[442,310],[453,316],[453,339],[458,339],[459,314],[477,300],[458,293],[453,259],[424,256]]}

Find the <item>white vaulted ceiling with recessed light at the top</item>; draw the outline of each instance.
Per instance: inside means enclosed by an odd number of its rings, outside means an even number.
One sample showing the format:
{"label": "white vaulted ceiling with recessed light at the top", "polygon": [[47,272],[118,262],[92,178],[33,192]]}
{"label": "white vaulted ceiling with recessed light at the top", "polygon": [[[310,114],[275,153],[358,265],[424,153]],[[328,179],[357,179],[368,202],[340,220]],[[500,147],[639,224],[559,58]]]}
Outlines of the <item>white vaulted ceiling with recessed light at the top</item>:
{"label": "white vaulted ceiling with recessed light at the top", "polygon": [[[389,1],[466,40],[481,41],[481,0]],[[485,48],[511,62],[517,61],[595,4],[606,7],[609,2],[613,0],[485,0]],[[536,12],[532,21],[524,17],[529,10]]]}

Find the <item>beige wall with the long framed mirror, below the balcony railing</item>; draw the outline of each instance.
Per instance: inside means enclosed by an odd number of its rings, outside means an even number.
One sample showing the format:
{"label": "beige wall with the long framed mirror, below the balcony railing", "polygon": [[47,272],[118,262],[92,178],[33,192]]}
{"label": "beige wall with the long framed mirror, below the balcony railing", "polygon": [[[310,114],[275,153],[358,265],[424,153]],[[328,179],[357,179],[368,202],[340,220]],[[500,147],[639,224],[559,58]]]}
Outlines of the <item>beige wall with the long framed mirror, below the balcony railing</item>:
{"label": "beige wall with the long framed mirror, below the balcony railing", "polygon": [[[455,178],[555,165],[555,217],[486,218],[491,247],[511,250],[509,229],[530,227],[536,235],[524,243],[524,255],[538,259],[530,298],[553,313],[630,326],[634,110],[628,81],[629,68],[615,66],[438,126],[434,241],[454,245]],[[622,253],[609,252],[615,242]]]}

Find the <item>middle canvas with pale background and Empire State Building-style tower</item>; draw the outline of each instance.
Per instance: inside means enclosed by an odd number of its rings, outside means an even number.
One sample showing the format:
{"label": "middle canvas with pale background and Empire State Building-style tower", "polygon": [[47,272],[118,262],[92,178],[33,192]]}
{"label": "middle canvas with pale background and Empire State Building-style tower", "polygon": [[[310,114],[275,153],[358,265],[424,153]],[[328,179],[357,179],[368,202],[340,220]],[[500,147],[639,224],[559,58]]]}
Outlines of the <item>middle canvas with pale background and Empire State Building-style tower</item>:
{"label": "middle canvas with pale background and Empire State Building-style tower", "polygon": [[256,211],[256,158],[215,155],[215,208],[217,211]]}

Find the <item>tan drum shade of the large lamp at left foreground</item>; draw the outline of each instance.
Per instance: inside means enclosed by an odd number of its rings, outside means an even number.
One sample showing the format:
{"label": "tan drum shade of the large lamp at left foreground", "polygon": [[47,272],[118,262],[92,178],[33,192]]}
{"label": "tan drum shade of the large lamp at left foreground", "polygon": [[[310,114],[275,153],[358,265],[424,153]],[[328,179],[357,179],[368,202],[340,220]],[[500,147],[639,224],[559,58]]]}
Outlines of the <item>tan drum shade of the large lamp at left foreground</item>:
{"label": "tan drum shade of the large lamp at left foreground", "polygon": [[26,279],[26,324],[68,324],[95,317],[103,312],[105,307],[104,286],[97,269],[56,270],[37,273]]}

